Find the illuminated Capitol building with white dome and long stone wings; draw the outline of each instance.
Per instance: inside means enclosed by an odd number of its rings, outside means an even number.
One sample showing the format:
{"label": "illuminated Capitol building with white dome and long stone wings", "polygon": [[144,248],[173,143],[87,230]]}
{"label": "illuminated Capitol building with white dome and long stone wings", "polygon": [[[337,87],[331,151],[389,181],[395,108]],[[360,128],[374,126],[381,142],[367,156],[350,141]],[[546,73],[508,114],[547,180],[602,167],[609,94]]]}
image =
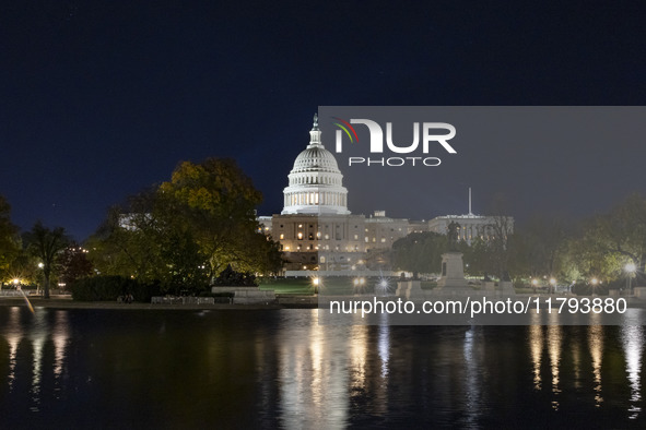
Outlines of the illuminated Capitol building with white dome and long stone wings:
{"label": "illuminated Capitol building with white dome and long stone wings", "polygon": [[[390,218],[385,211],[368,217],[348,210],[348,189],[337,159],[321,141],[318,116],[309,131],[309,144],[298,154],[283,190],[283,210],[259,216],[260,229],[278,240],[287,271],[378,270],[384,251],[410,232],[446,234],[451,222],[459,224],[459,238],[469,243],[480,236],[493,237],[493,219],[471,214],[438,216],[431,220]],[[506,217],[512,232],[513,218]]]}

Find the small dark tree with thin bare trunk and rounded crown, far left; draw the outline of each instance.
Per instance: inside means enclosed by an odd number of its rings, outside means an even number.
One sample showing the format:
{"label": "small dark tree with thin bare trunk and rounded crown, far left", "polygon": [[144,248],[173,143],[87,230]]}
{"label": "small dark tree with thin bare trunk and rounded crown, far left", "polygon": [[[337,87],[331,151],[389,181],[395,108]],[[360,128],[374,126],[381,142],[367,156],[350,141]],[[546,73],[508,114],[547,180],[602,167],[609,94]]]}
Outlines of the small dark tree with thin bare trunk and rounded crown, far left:
{"label": "small dark tree with thin bare trunk and rounded crown, far left", "polygon": [[58,268],[59,253],[68,247],[69,238],[62,227],[50,229],[37,222],[32,230],[25,234],[25,242],[30,252],[43,263],[44,297],[48,299],[51,275]]}

